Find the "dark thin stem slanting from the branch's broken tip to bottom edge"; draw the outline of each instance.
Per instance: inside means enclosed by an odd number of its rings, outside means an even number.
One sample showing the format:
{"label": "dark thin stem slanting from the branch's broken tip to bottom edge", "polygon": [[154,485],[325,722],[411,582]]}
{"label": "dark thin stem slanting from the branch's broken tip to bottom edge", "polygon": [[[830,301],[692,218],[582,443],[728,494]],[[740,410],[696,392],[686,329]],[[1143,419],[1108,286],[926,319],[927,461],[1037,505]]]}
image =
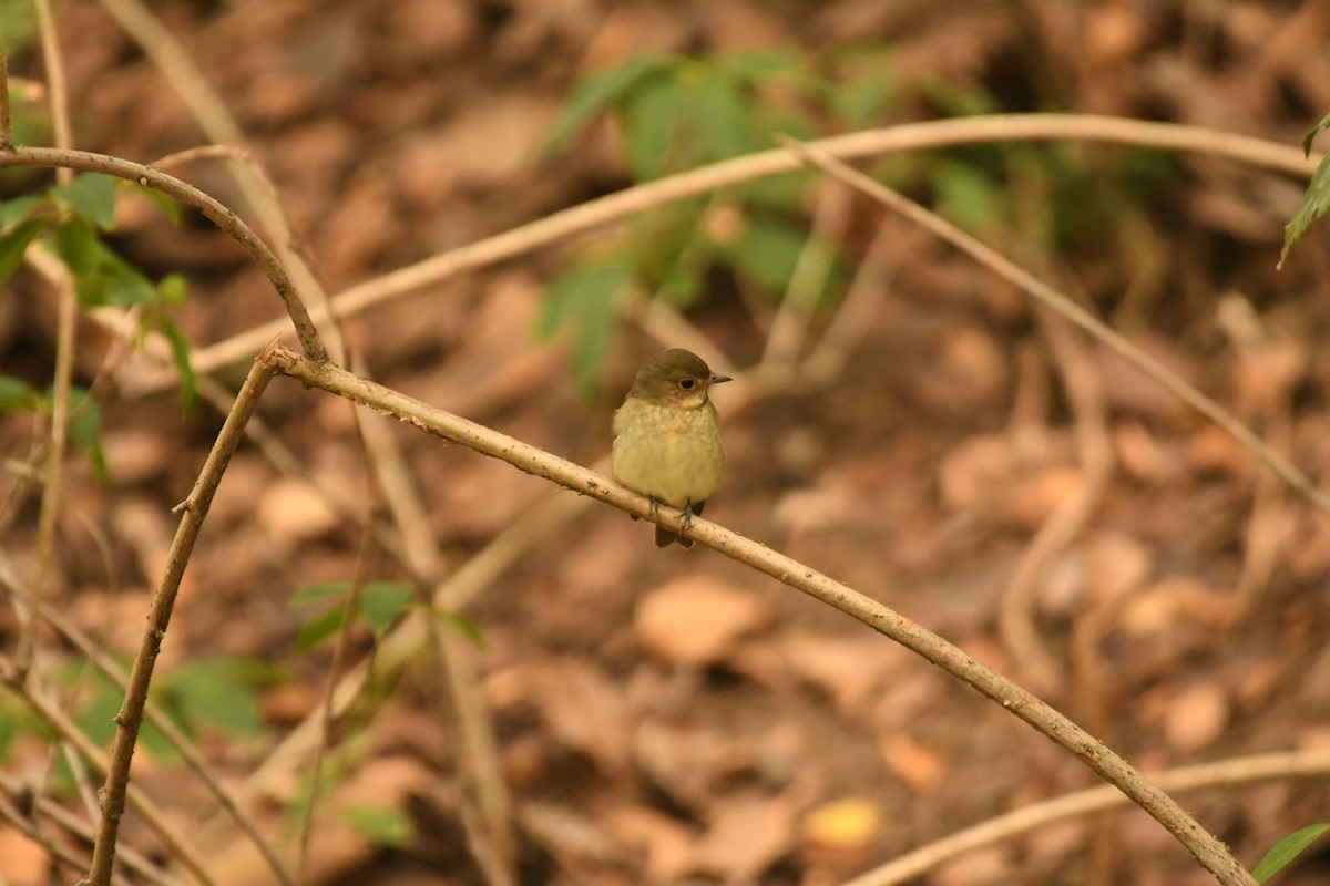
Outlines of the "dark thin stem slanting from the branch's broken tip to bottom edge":
{"label": "dark thin stem slanting from the branch's broken tip to bottom edge", "polygon": [[157,590],[153,592],[152,604],[148,608],[148,626],[144,630],[142,644],[134,658],[134,667],[129,673],[129,688],[125,691],[125,701],[116,715],[116,741],[110,751],[110,765],[106,770],[106,782],[101,792],[101,828],[97,832],[97,843],[93,847],[93,863],[88,871],[86,882],[92,886],[106,886],[110,881],[110,869],[116,857],[116,834],[120,829],[120,817],[125,812],[125,788],[129,785],[129,764],[134,756],[134,743],[138,740],[138,727],[144,719],[144,705],[148,701],[148,688],[153,677],[153,665],[161,650],[162,639],[166,636],[166,626],[170,623],[172,608],[176,604],[176,594],[180,590],[181,578],[189,565],[189,557],[198,539],[198,531],[207,517],[207,509],[213,503],[213,495],[222,481],[226,465],[231,454],[245,436],[245,424],[258,406],[267,383],[273,377],[270,363],[255,361],[254,368],[245,379],[235,405],[226,417],[221,433],[213,444],[213,450],[203,462],[203,469],[198,474],[198,481],[190,491],[189,498],[177,505],[176,510],[184,510],[176,538],[168,554],[166,571],[162,575]]}

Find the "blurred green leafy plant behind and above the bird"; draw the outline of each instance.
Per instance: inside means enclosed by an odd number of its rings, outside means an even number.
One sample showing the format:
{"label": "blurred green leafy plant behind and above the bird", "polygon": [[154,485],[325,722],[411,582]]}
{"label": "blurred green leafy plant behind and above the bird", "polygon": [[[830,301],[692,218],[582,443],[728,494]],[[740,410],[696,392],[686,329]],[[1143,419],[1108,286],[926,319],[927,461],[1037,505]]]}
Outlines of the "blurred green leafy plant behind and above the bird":
{"label": "blurred green leafy plant behind and above the bird", "polygon": [[[629,173],[648,182],[769,149],[778,133],[811,138],[827,117],[863,122],[890,106],[894,82],[888,56],[874,48],[822,60],[786,49],[637,57],[577,85],[545,150],[565,150],[580,129],[608,117]],[[644,214],[608,244],[575,258],[549,284],[536,335],[572,331],[573,375],[589,396],[609,352],[616,295],[624,287],[690,307],[702,299],[708,272],[724,267],[781,298],[809,243],[799,205],[806,181],[803,173],[766,178],[710,203],[682,201]],[[706,215],[717,210],[737,211],[737,238],[708,232]]]}

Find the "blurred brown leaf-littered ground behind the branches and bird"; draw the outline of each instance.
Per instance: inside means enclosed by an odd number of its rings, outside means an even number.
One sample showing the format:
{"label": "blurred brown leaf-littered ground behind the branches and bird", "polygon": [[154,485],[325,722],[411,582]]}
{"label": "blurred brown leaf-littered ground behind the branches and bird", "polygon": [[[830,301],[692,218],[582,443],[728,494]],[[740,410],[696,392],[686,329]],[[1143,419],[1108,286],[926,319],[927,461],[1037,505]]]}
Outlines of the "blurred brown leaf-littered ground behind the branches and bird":
{"label": "blurred brown leaf-littered ground behind the branches and bird", "polygon": [[[56,13],[74,146],[152,162],[243,142],[271,191],[235,154],[169,171],[282,243],[262,209],[275,194],[307,296],[372,290],[778,133],[1092,113],[1297,149],[1330,110],[1325,0],[69,0]],[[4,15],[16,141],[51,143],[35,17],[17,3]],[[861,167],[1104,317],[1314,480],[1330,468],[1325,228],[1275,271],[1305,177],[1081,141],[979,139]],[[0,187],[9,199],[52,181],[5,170]],[[184,283],[182,299],[128,316],[165,317],[196,359],[282,316],[202,217],[173,221],[121,189],[101,242],[149,290]],[[39,271],[0,298],[0,372],[35,396],[57,317]],[[128,660],[170,507],[225,412],[206,397],[185,409],[169,363],[126,349],[109,331],[126,312],[102,302],[80,315],[74,384],[96,421],[74,433],[41,582]],[[1326,518],[1103,345],[819,174],[658,202],[427,275],[343,329],[364,375],[584,465],[608,454],[636,369],[690,347],[739,379],[714,392],[730,466],[708,518],[942,634],[1138,766],[1330,753]],[[267,337],[201,371],[235,391]],[[23,402],[0,416],[5,650],[13,600],[41,573],[47,422]],[[336,717],[302,883],[501,882],[496,870],[532,885],[837,883],[1095,784],[967,687],[704,547],[657,551],[645,523],[407,426],[364,444],[344,401],[290,380],[258,417],[269,442],[242,445],[225,476],[154,699],[294,857],[314,752],[283,749],[317,721],[330,672],[378,665]],[[334,664],[358,578],[374,592]],[[375,658],[407,610],[430,612],[450,651],[422,634]],[[118,691],[66,636],[37,644],[52,696],[109,741]],[[489,741],[468,744],[458,721]],[[134,784],[190,822],[217,882],[271,882],[177,754],[144,743]],[[7,796],[82,809],[88,782],[13,692],[0,691],[0,753]],[[477,792],[509,800],[488,837],[466,824]],[[1249,867],[1330,818],[1313,776],[1180,800]],[[122,842],[170,854],[133,816]],[[476,862],[477,846],[499,861]],[[70,870],[4,825],[0,878]],[[1313,850],[1282,882],[1327,878]],[[1129,810],[916,882],[1213,881]]]}

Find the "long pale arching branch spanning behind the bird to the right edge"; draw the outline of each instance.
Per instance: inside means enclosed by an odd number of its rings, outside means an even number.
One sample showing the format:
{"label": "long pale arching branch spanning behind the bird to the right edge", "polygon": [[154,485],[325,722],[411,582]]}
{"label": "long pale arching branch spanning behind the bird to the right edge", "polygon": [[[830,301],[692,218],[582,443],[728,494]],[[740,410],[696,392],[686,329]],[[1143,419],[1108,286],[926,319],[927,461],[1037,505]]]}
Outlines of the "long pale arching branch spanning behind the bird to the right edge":
{"label": "long pale arching branch spanning behind the bird to the right edge", "polygon": [[[1321,159],[1315,154],[1310,158],[1303,157],[1295,146],[1249,135],[1236,135],[1181,124],[1097,114],[963,117],[870,129],[809,143],[831,157],[854,159],[954,145],[1052,139],[1101,141],[1210,154],[1305,179],[1311,177]],[[799,166],[799,159],[790,151],[777,149],[737,157],[638,185],[367,280],[334,296],[332,304],[339,316],[350,317],[407,292],[436,286],[464,271],[511,259],[654,206],[769,175],[793,173]],[[311,316],[322,321],[326,313],[323,308],[314,307]],[[274,320],[207,348],[201,348],[193,355],[194,368],[198,372],[209,372],[246,360],[262,348],[263,343],[283,331],[285,324],[281,320]],[[148,393],[172,384],[174,384],[174,376],[162,372],[142,380],[134,389],[140,393]]]}

